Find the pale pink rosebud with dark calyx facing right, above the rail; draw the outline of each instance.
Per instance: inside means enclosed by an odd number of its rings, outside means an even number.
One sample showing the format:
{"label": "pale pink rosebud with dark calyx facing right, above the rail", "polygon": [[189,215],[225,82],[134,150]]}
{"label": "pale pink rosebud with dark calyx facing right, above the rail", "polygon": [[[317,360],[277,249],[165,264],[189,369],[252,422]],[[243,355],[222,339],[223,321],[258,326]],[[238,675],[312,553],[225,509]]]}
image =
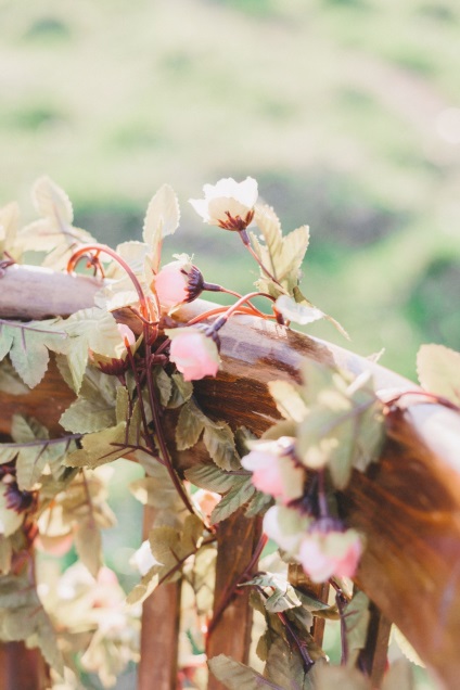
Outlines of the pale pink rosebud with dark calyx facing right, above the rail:
{"label": "pale pink rosebud with dark calyx facing right, above the rail", "polygon": [[162,307],[170,309],[196,299],[203,291],[203,276],[190,260],[180,258],[162,268],[153,279],[152,289]]}

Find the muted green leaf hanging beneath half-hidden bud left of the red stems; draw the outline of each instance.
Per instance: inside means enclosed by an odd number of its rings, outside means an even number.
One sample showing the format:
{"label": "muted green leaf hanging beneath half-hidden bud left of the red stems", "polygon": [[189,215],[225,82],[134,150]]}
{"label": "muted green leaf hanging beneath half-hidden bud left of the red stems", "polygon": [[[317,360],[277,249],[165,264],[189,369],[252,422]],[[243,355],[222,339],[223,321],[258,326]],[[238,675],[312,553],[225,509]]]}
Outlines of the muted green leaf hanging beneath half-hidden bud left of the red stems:
{"label": "muted green leaf hanging beneath half-hidden bud left of the red stems", "polygon": [[[60,424],[79,434],[98,432],[116,423],[117,382],[99,369],[88,367],[78,398],[63,412]],[[125,391],[125,388],[123,388]]]}

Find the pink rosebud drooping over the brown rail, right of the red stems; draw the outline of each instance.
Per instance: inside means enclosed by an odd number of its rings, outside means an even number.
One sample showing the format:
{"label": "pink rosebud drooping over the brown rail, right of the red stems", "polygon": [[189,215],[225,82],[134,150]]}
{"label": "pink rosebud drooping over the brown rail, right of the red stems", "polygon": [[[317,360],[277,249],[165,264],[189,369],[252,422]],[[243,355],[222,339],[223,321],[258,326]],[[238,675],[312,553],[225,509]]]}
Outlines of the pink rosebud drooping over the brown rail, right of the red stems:
{"label": "pink rosebud drooping over the brown rail, right of the red stems", "polygon": [[215,376],[219,369],[219,352],[216,343],[202,330],[194,328],[166,329],[171,340],[169,359],[184,381]]}

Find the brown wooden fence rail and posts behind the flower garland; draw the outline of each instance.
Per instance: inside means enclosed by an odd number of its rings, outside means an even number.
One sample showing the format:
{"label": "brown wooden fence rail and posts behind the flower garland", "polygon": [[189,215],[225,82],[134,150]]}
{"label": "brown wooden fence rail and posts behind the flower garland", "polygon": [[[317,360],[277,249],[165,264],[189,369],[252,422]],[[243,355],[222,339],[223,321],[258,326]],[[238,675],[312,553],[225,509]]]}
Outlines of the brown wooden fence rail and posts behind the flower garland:
{"label": "brown wooden fence rail and posts behind the flower garland", "polygon": [[[94,279],[13,266],[0,279],[0,318],[65,316],[89,306],[99,286]],[[196,301],[179,318],[189,319],[208,306]],[[267,383],[276,379],[298,380],[298,366],[304,357],[354,373],[371,369],[381,388],[416,387],[348,350],[253,317],[231,319],[221,331],[221,343],[222,367],[218,376],[195,384],[200,404],[214,418],[226,420],[233,427],[244,425],[256,434],[279,417]],[[34,414],[52,433],[62,433],[58,420],[71,399],[71,392],[50,368],[43,382],[29,395],[0,395],[0,433],[9,433],[13,412]],[[190,467],[201,452],[204,450],[199,448],[193,456],[190,451],[177,453],[177,465]],[[380,462],[367,474],[356,472],[340,502],[350,526],[366,536],[356,582],[381,612],[375,616],[373,650],[368,659],[375,681],[383,673],[384,653],[379,653],[379,649],[387,638],[386,622],[392,621],[445,687],[457,689],[460,678],[458,416],[435,404],[412,405],[393,414]],[[149,520],[146,514],[146,527]],[[220,529],[218,539],[222,541],[228,529],[241,536],[218,552],[216,601],[219,591],[242,570],[241,564],[250,561],[259,524],[235,515],[222,523]],[[234,545],[231,553],[230,544]],[[166,608],[167,616],[162,616],[162,608]],[[177,615],[171,615],[173,612]],[[178,615],[176,585],[156,590],[146,600],[139,690],[176,687]],[[246,661],[250,631],[251,609],[244,596],[238,597],[214,630],[209,653],[227,653],[237,661]],[[3,656],[7,652],[3,650]],[[3,668],[10,666],[3,664]],[[30,690],[43,687],[40,682],[37,679]],[[209,680],[209,690],[220,687]],[[18,686],[14,685],[14,678],[9,680],[4,676],[0,679],[2,688],[17,690]]]}

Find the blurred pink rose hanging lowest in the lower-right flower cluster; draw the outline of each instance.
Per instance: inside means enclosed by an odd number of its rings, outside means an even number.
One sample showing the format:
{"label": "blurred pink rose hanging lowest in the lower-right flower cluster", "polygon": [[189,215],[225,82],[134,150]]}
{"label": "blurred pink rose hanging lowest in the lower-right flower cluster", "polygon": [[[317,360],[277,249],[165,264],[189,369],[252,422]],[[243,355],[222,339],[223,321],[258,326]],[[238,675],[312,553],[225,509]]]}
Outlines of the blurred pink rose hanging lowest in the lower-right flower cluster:
{"label": "blurred pink rose hanging lowest in the lower-right flower cluster", "polygon": [[303,538],[298,560],[314,583],[324,583],[333,575],[353,577],[361,553],[362,541],[355,529],[315,531]]}

